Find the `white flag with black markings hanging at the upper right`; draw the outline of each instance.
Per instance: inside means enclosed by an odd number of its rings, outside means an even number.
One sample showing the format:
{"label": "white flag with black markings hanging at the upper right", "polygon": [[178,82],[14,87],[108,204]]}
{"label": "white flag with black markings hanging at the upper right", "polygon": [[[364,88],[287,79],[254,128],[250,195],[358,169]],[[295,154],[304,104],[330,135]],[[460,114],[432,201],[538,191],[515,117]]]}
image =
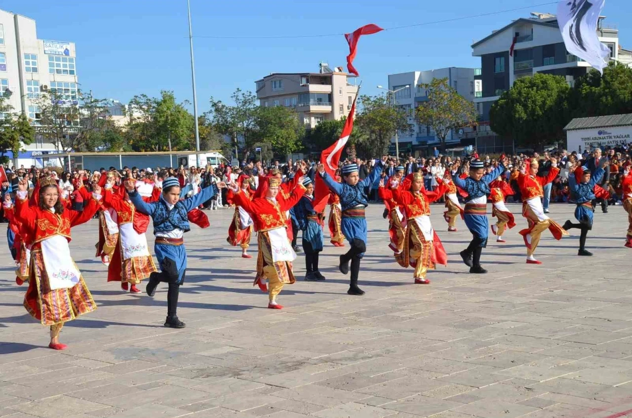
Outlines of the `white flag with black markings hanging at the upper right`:
{"label": "white flag with black markings hanging at the upper right", "polygon": [[557,4],[557,23],[566,50],[604,73],[610,49],[599,42],[597,22],[605,0],[562,0]]}

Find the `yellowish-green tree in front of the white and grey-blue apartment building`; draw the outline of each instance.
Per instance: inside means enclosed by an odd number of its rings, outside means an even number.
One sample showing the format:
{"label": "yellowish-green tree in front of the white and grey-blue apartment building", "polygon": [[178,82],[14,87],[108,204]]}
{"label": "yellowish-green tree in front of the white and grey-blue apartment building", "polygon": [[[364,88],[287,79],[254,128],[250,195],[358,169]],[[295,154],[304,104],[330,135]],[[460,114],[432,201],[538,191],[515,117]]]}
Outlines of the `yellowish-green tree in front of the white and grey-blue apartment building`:
{"label": "yellowish-green tree in front of the white and grey-blue apartment building", "polygon": [[447,78],[434,78],[419,87],[427,90],[428,100],[417,107],[416,118],[420,124],[429,125],[442,144],[446,143],[450,131],[476,121],[474,104],[459,95]]}

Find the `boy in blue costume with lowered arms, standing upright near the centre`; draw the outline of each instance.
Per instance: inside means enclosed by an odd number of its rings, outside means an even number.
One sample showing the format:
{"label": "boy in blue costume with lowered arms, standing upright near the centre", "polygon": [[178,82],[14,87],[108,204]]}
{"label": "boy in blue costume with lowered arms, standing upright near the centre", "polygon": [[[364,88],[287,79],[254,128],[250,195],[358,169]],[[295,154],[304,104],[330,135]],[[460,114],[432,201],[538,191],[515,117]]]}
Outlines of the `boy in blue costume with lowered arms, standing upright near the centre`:
{"label": "boy in blue costume with lowered arms, standing upright near the centre", "polygon": [[[312,184],[310,177],[305,177],[303,186],[307,188]],[[295,219],[298,227],[303,231],[303,251],[305,252],[305,268],[307,274],[305,280],[325,280],[318,268],[319,253],[323,248],[323,214],[317,213],[313,208],[313,194],[303,194],[301,200],[294,206]]]}

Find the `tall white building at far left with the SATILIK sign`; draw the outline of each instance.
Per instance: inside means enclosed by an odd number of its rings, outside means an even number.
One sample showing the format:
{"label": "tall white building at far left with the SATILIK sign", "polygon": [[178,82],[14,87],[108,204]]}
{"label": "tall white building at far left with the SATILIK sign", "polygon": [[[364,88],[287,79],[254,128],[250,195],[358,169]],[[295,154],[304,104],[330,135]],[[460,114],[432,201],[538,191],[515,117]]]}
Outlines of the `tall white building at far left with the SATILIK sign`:
{"label": "tall white building at far left with the SATILIK sign", "polygon": [[[69,103],[77,102],[75,44],[37,39],[35,20],[0,10],[0,93],[6,103],[37,126],[36,100],[50,90],[63,92]],[[18,166],[59,164],[46,157],[55,152],[54,144],[42,143],[41,138],[23,148]]]}

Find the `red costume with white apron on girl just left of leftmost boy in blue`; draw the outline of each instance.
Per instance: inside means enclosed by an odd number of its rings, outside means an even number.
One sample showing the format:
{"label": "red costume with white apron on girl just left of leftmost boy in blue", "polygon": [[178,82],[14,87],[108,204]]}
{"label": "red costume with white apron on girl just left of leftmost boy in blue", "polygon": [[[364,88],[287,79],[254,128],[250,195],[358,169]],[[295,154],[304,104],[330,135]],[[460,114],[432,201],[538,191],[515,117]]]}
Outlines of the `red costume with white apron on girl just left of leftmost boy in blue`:
{"label": "red costume with white apron on girl just left of leftmost boy in blue", "polygon": [[[103,206],[116,213],[119,229],[119,239],[107,268],[107,281],[137,285],[158,270],[149,253],[145,237],[149,217],[137,212],[136,207],[126,196],[123,188],[119,188],[118,191],[106,190],[104,193]],[[123,289],[127,290],[126,287]],[[138,293],[135,286],[131,291]]]}

